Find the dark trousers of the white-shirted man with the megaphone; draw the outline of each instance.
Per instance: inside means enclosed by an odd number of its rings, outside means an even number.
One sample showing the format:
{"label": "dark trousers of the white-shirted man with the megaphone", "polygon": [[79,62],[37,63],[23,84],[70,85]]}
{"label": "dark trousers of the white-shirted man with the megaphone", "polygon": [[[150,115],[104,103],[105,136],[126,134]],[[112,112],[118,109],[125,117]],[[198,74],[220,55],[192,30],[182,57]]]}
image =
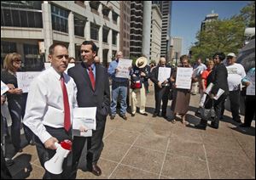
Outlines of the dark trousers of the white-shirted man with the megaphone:
{"label": "dark trousers of the white-shirted man with the megaphone", "polygon": [[[46,126],[45,126],[46,127]],[[46,127],[47,132],[55,138],[58,139],[59,143],[65,139],[72,140],[71,132],[66,132],[64,128],[54,128],[54,127]],[[46,149],[44,144],[40,141],[38,137],[35,138],[37,143],[37,151],[38,157],[41,163],[41,166],[44,167],[44,162],[50,160],[54,155],[56,150]],[[67,158],[63,161],[62,168],[63,172],[61,174],[55,175],[45,170],[44,179],[68,179],[71,174],[71,166],[72,166],[72,154],[69,153]]]}

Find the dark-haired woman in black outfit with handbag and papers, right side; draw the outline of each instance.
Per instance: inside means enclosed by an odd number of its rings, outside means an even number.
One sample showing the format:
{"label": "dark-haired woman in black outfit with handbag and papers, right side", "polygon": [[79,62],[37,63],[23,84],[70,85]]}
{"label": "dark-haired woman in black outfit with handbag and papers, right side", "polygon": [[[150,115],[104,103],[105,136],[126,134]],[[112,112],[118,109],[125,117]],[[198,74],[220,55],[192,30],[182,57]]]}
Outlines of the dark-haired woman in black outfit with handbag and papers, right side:
{"label": "dark-haired woman in black outfit with handbag and papers, right side", "polygon": [[[219,119],[221,117],[221,110],[224,107],[225,99],[229,94],[229,86],[228,86],[228,71],[223,64],[223,60],[225,59],[224,53],[215,53],[213,55],[214,68],[212,72],[207,76],[207,87],[212,82],[213,87],[212,91],[209,93],[208,98],[213,98],[217,95],[218,91],[222,89],[224,93],[217,99],[214,100],[213,108],[215,110],[215,119],[211,123],[211,127],[218,129]],[[212,100],[206,100],[205,108],[210,109],[212,107]],[[196,128],[207,129],[207,121],[201,119],[200,124],[196,125]]]}

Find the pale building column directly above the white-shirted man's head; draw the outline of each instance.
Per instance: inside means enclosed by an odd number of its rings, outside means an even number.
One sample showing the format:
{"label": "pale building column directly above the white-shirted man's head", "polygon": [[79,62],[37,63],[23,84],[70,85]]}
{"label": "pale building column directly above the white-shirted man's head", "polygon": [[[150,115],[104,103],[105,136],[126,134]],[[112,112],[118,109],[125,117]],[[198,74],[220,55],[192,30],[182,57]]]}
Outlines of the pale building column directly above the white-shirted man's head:
{"label": "pale building column directly above the white-shirted man's head", "polygon": [[53,31],[51,23],[51,9],[47,1],[42,3],[43,31],[44,31],[44,50],[45,61],[48,62],[49,47],[53,44]]}

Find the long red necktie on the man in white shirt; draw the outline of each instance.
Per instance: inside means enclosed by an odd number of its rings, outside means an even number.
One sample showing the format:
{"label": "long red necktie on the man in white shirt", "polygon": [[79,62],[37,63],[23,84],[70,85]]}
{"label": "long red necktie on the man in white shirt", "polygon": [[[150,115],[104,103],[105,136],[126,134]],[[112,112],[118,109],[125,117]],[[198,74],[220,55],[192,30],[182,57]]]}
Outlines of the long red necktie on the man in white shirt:
{"label": "long red necktie on the man in white shirt", "polygon": [[68,132],[71,127],[70,109],[69,109],[69,103],[68,103],[68,97],[67,97],[67,88],[66,88],[63,76],[61,76],[61,88],[62,88],[63,102],[64,102],[64,128]]}

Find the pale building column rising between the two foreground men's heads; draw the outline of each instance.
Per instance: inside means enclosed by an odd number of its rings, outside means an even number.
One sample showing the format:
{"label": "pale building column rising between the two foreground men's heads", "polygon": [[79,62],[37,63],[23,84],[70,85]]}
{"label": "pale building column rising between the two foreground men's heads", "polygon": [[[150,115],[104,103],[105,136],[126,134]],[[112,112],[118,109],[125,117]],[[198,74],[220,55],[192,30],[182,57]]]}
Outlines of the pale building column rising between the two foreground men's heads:
{"label": "pale building column rising between the two foreground men's heads", "polygon": [[74,22],[73,22],[73,12],[68,14],[68,54],[70,57],[75,57],[75,44],[74,44]]}

